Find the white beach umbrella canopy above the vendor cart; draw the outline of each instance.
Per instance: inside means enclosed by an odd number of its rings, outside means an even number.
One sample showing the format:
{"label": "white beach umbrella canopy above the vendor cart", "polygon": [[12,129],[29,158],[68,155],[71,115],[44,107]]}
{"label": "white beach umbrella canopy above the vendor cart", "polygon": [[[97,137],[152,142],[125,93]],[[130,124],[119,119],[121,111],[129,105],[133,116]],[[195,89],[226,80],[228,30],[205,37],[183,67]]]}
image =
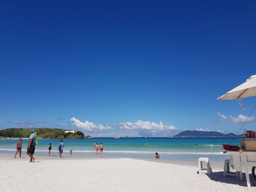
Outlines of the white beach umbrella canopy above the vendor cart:
{"label": "white beach umbrella canopy above the vendor cart", "polygon": [[252,75],[246,82],[223,94],[218,99],[241,99],[256,96],[256,75]]}

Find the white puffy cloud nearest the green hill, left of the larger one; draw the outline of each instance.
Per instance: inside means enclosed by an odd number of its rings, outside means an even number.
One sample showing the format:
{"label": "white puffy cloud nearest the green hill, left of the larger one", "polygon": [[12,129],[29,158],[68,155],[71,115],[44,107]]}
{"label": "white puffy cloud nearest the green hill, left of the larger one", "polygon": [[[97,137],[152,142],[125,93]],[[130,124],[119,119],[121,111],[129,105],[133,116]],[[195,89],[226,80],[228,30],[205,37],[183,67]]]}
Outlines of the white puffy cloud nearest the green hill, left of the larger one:
{"label": "white puffy cloud nearest the green hill, left of the larger one", "polygon": [[77,126],[79,129],[84,130],[84,131],[89,131],[89,132],[93,132],[93,131],[98,131],[98,130],[110,130],[111,127],[106,125],[103,126],[101,124],[99,125],[95,125],[94,123],[91,123],[89,121],[84,121],[81,122],[78,119],[76,119],[75,117],[70,118],[70,121]]}

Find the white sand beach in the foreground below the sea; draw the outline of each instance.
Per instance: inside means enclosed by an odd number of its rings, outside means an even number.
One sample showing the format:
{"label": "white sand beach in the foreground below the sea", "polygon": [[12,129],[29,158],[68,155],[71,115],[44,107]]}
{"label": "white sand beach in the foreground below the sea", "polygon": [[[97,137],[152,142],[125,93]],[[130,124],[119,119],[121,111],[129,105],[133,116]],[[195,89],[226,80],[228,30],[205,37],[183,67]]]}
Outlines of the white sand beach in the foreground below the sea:
{"label": "white sand beach in the foreground below the sea", "polygon": [[[0,154],[1,191],[255,191],[246,181],[223,177],[223,169],[212,165],[211,175],[199,175],[194,163],[172,164],[161,159],[83,159],[66,156],[13,158]],[[251,181],[256,180],[251,178]]]}

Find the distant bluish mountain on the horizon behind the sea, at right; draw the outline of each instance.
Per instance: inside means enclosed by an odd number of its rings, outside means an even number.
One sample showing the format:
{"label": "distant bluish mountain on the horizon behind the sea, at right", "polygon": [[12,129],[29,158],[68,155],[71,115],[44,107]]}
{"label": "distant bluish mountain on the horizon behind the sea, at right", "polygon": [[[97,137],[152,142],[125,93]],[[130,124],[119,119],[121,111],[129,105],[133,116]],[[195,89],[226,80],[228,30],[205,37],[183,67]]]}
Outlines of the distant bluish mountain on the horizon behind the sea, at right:
{"label": "distant bluish mountain on the horizon behind the sea, at right", "polygon": [[223,134],[218,131],[183,131],[173,137],[241,137],[241,135]]}

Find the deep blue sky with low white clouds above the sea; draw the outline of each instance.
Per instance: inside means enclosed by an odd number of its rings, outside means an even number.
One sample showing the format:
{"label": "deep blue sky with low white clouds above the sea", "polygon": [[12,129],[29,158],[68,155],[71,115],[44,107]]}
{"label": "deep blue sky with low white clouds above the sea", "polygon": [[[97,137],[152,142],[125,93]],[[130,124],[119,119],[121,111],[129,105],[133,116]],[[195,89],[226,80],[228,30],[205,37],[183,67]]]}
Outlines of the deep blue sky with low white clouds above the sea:
{"label": "deep blue sky with low white clouds above the sea", "polygon": [[[256,74],[255,8],[254,1],[1,2],[0,129],[237,133],[256,98],[217,98]],[[256,131],[255,111],[251,117],[243,129]]]}

